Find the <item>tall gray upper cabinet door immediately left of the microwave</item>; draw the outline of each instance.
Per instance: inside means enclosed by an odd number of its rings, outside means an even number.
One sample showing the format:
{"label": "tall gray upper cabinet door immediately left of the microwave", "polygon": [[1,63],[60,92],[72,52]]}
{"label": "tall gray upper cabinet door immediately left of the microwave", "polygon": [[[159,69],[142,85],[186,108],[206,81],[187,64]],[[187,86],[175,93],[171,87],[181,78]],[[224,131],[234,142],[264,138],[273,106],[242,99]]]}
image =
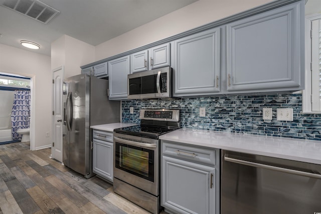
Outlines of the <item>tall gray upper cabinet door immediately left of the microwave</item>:
{"label": "tall gray upper cabinet door immediately left of the microwave", "polygon": [[109,99],[127,99],[127,75],[130,74],[129,56],[108,62]]}

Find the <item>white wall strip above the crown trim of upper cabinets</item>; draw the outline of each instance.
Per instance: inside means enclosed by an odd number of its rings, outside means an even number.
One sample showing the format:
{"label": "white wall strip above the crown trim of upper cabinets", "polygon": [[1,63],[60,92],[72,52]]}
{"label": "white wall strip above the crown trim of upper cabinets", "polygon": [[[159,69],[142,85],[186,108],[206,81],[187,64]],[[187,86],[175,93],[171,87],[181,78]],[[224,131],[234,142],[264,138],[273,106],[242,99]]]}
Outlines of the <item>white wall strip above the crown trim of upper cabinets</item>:
{"label": "white wall strip above the crown trim of upper cabinets", "polygon": [[242,4],[239,2],[240,0],[199,0],[96,46],[95,61],[169,38],[272,1],[242,0]]}

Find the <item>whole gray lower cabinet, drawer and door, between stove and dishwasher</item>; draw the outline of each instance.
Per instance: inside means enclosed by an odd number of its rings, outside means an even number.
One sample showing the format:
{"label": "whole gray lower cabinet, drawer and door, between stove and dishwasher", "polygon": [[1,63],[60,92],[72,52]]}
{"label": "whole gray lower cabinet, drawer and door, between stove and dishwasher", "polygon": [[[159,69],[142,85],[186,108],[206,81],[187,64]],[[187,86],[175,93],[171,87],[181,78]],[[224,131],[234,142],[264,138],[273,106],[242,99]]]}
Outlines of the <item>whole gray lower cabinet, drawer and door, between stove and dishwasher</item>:
{"label": "whole gray lower cabinet, drawer and door, between stove and dishwasher", "polygon": [[219,213],[219,149],[162,141],[161,178],[166,211]]}

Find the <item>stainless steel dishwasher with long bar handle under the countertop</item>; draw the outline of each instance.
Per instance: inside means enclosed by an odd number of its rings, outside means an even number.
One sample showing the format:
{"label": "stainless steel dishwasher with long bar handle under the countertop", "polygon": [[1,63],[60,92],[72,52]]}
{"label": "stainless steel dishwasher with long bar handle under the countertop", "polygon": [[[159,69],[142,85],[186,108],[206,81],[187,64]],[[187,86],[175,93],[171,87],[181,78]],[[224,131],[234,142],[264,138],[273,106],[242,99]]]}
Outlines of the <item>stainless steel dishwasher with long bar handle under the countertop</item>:
{"label": "stainless steel dishwasher with long bar handle under the countertop", "polygon": [[221,169],[222,214],[321,213],[321,165],[222,150]]}

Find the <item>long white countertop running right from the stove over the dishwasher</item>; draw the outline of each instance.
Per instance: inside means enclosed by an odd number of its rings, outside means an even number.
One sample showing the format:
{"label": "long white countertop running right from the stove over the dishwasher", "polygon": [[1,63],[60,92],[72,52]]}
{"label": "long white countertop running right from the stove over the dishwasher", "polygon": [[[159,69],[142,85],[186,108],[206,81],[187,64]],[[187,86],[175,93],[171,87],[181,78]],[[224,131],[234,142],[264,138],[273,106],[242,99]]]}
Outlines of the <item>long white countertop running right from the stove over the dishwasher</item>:
{"label": "long white countertop running right from the stove over the dishwasher", "polygon": [[161,140],[321,164],[321,141],[193,129],[178,129]]}

